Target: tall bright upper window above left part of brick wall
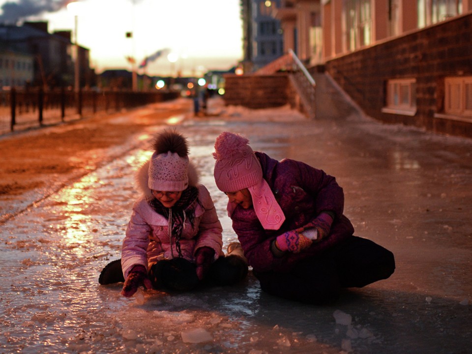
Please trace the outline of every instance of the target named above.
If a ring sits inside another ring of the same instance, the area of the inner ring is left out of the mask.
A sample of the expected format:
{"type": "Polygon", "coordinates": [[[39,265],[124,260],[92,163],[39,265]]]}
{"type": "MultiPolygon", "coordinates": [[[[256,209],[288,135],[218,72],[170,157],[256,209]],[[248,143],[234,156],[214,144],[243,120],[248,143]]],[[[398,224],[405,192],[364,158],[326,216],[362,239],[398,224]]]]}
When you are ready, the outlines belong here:
{"type": "Polygon", "coordinates": [[[346,0],[344,6],[346,49],[354,51],[371,43],[370,0],[346,0]]]}

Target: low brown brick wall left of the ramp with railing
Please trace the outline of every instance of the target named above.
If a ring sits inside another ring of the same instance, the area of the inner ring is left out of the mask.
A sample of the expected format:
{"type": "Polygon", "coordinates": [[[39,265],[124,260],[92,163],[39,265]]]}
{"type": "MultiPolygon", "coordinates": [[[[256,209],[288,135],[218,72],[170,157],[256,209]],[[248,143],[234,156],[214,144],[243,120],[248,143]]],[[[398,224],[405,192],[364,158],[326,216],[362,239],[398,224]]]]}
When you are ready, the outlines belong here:
{"type": "Polygon", "coordinates": [[[289,103],[289,83],[285,73],[272,75],[224,75],[226,105],[251,109],[279,107],[289,103]]]}

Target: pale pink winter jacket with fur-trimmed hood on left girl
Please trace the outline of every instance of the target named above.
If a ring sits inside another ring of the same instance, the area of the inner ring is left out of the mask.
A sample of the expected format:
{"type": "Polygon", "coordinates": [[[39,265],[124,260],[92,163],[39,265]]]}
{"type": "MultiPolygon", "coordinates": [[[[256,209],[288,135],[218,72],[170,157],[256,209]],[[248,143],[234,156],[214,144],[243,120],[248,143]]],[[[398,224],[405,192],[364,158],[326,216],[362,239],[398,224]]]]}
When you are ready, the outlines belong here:
{"type": "MultiPolygon", "coordinates": [[[[144,195],[134,203],[131,219],[128,223],[126,236],[121,249],[121,266],[126,279],[135,265],[143,265],[149,269],[162,259],[178,257],[174,236],[169,238],[169,221],[149,206],[147,198],[152,196],[148,187],[148,166],[146,163],[138,172],[137,181],[144,195]]],[[[195,251],[203,246],[215,251],[215,260],[223,255],[222,227],[216,215],[211,196],[207,188],[198,184],[198,176],[192,164],[189,164],[189,185],[198,188],[198,200],[189,209],[195,209],[193,227],[185,220],[180,236],[182,257],[194,262],[195,251]]],[[[189,213],[189,212],[187,212],[189,213]]]]}

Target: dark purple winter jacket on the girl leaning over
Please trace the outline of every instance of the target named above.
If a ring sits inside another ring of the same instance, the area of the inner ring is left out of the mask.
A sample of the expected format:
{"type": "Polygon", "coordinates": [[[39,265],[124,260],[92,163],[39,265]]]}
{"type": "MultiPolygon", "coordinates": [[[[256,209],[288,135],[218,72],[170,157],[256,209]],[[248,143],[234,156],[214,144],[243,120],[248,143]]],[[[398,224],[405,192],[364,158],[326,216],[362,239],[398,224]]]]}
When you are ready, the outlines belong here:
{"type": "Polygon", "coordinates": [[[255,154],[261,162],[263,177],[286,219],[279,230],[265,230],[253,207],[244,209],[238,205],[233,211],[233,229],[254,270],[290,271],[296,262],[317,255],[353,236],[354,227],[343,215],[343,189],[337,184],[335,177],[300,161],[283,159],[279,162],[265,153],[255,154]],[[277,236],[306,225],[322,211],[335,214],[329,236],[313,242],[300,253],[287,252],[283,257],[272,254],[270,245],[277,236]]]}

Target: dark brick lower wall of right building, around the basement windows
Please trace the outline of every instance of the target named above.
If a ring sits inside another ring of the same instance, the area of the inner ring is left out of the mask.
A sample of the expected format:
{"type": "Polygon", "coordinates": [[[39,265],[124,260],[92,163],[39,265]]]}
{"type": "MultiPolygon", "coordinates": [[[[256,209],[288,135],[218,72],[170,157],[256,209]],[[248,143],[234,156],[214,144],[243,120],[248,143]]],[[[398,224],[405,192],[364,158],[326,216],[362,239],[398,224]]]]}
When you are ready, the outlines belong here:
{"type": "Polygon", "coordinates": [[[472,75],[471,14],[329,60],[325,67],[372,118],[472,137],[472,118],[434,117],[443,113],[444,77],[472,75]],[[414,117],[381,111],[386,82],[395,78],[416,78],[414,117]]]}

